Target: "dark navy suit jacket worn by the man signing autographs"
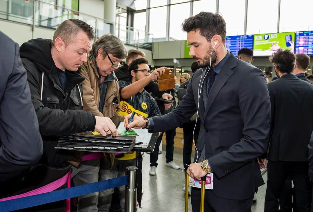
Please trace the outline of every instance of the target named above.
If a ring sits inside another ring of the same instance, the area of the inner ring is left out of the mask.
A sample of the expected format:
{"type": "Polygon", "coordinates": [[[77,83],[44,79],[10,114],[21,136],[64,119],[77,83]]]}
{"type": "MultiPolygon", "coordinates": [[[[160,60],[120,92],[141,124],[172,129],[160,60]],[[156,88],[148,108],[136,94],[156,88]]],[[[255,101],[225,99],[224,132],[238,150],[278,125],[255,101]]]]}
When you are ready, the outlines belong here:
{"type": "Polygon", "coordinates": [[[231,54],[215,79],[205,109],[202,94],[198,99],[204,74],[203,69],[200,81],[201,69],[193,73],[187,94],[174,111],[153,117],[154,131],[187,123],[199,102],[201,129],[195,160],[208,159],[215,195],[234,200],[252,198],[254,189],[264,184],[256,158],[266,151],[269,137],[265,77],[261,70],[231,54]]]}

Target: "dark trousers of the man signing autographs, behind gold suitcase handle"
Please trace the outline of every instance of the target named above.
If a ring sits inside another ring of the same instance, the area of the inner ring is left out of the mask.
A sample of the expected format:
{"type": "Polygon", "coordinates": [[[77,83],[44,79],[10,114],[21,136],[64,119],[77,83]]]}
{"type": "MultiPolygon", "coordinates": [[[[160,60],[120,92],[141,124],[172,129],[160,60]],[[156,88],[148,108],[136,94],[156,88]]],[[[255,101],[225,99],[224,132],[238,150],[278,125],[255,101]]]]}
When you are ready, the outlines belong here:
{"type": "MultiPolygon", "coordinates": [[[[214,186],[213,186],[214,187],[214,186]]],[[[200,211],[200,192],[199,188],[192,187],[191,205],[193,212],[200,211]]],[[[216,196],[212,190],[205,190],[204,194],[204,211],[205,212],[251,212],[253,198],[247,200],[229,200],[216,196]]]]}

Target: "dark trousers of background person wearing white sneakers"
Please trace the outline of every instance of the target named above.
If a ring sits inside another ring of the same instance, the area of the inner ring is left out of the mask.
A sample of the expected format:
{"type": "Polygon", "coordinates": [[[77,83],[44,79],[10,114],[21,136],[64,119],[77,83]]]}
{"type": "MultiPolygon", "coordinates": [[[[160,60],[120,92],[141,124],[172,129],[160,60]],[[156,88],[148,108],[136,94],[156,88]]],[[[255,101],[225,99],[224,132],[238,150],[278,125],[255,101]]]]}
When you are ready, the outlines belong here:
{"type": "MultiPolygon", "coordinates": [[[[156,147],[154,151],[150,154],[150,166],[157,166],[157,159],[159,157],[159,146],[162,141],[162,136],[164,132],[157,138],[156,147]]],[[[174,154],[174,137],[176,136],[176,128],[172,130],[165,131],[165,139],[166,139],[166,162],[173,161],[174,154]]]]}

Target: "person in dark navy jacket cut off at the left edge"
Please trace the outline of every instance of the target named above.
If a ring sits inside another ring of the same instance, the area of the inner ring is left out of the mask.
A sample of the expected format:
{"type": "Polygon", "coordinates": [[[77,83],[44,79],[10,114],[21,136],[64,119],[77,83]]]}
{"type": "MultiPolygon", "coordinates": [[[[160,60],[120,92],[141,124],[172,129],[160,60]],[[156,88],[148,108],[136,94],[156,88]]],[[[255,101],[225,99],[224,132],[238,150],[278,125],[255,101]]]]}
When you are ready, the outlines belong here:
{"type": "Polygon", "coordinates": [[[0,197],[21,182],[43,147],[19,46],[0,31],[0,197]],[[8,187],[6,187],[8,186],[8,187]]]}

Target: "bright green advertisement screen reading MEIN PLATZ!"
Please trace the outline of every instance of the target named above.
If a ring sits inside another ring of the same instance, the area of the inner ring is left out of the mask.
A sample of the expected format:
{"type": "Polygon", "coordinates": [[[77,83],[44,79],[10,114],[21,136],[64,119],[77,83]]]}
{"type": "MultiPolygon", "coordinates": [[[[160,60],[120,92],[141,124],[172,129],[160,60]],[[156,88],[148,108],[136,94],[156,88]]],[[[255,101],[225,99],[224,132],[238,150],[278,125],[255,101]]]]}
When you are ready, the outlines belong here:
{"type": "Polygon", "coordinates": [[[269,56],[279,49],[289,49],[294,52],[295,32],[280,32],[254,35],[254,56],[269,56]]]}

